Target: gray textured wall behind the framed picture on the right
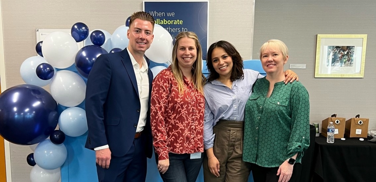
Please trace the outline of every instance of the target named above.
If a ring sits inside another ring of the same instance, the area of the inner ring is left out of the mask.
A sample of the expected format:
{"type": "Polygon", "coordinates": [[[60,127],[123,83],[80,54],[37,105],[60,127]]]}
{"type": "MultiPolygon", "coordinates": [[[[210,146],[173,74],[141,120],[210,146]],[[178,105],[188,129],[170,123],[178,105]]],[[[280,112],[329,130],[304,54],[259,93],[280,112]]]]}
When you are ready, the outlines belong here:
{"type": "MultiPolygon", "coordinates": [[[[308,89],[311,123],[331,114],[370,118],[376,128],[376,2],[374,0],[256,0],[253,58],[269,39],[284,41],[288,64],[306,64],[293,70],[308,89]],[[364,78],[314,78],[317,34],[368,34],[364,78]]],[[[288,66],[285,65],[287,69],[288,66]]]]}

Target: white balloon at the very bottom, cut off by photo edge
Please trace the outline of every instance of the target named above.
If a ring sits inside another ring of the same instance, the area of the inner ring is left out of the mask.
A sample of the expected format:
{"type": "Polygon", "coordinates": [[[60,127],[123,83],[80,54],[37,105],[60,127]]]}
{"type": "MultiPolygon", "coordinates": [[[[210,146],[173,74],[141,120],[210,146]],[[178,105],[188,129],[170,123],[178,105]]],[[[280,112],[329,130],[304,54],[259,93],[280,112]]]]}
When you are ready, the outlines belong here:
{"type": "Polygon", "coordinates": [[[32,182],[58,182],[60,176],[60,168],[46,170],[38,165],[35,165],[30,171],[30,180],[32,182]]]}

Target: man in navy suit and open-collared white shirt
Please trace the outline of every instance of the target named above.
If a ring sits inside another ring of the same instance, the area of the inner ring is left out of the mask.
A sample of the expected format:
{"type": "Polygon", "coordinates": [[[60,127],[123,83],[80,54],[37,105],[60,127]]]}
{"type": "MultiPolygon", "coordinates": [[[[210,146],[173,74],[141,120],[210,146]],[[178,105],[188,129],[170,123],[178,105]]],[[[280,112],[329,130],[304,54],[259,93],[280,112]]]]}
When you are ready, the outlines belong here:
{"type": "Polygon", "coordinates": [[[154,18],[135,12],[129,21],[129,45],[100,55],[86,85],[88,138],[96,152],[99,182],[144,182],[152,157],[150,96],[153,74],[144,53],[153,42],[154,18]]]}

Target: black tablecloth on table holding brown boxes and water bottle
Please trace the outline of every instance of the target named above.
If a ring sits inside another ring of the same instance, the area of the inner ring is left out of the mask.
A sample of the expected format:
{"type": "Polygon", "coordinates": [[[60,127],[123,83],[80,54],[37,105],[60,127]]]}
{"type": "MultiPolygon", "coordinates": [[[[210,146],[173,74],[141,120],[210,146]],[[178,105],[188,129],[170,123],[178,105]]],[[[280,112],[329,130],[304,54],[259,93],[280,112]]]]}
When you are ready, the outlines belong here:
{"type": "Polygon", "coordinates": [[[376,182],[376,143],[346,138],[330,144],[320,135],[315,143],[315,173],[324,182],[376,182]]]}

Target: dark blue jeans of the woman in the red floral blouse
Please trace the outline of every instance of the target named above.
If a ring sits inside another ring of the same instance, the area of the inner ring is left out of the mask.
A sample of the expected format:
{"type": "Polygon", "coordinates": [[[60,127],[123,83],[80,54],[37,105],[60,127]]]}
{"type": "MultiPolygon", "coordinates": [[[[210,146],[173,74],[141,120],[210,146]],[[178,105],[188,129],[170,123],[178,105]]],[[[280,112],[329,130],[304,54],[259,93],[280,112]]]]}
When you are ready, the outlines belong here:
{"type": "MultiPolygon", "coordinates": [[[[155,155],[158,165],[158,155],[155,155]]],[[[201,153],[201,158],[191,159],[190,154],[176,154],[168,153],[170,166],[168,170],[162,174],[159,173],[164,182],[196,182],[199,176],[204,153],[201,153]]]]}

